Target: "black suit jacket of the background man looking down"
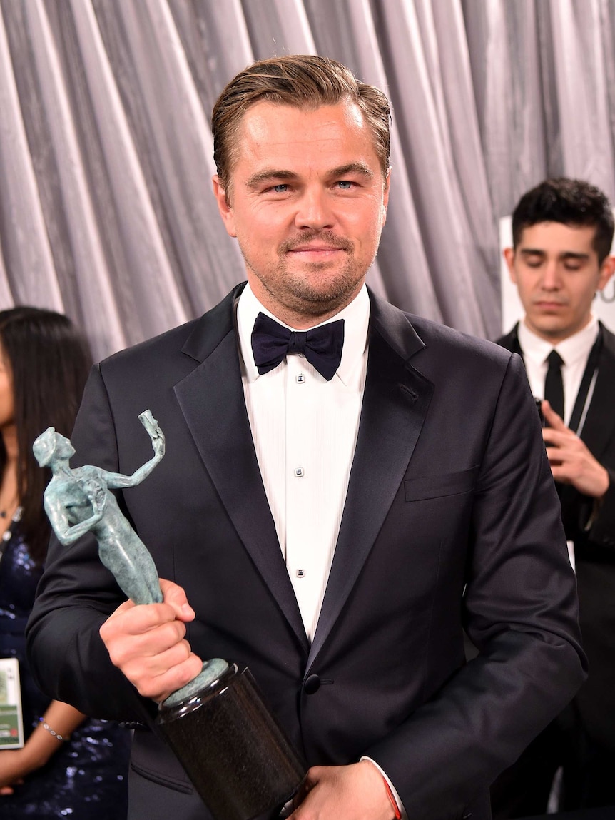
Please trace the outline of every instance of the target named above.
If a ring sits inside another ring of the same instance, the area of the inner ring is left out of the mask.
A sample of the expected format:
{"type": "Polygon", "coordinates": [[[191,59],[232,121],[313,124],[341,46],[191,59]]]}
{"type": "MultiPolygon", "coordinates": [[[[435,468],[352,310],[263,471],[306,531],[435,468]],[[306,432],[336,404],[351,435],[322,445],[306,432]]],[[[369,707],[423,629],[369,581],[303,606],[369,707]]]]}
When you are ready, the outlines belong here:
{"type": "MultiPolygon", "coordinates": [[[[615,753],[615,335],[602,324],[601,332],[598,374],[580,435],[611,483],[598,507],[572,485],[560,486],[560,499],[566,535],[575,544],[581,631],[590,661],[575,711],[590,737],[615,753]]],[[[498,343],[522,353],[517,326],[498,343]]]]}

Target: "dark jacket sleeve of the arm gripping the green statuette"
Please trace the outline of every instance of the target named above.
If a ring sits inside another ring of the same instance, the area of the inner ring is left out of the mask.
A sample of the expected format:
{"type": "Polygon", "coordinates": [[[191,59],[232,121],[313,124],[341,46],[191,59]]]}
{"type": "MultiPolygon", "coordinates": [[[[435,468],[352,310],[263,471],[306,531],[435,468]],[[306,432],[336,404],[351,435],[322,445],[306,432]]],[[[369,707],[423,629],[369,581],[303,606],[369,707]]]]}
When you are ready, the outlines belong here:
{"type": "MultiPolygon", "coordinates": [[[[98,366],[89,376],[71,442],[73,466],[118,471],[112,413],[98,366]]],[[[148,722],[156,704],[141,698],[113,666],[98,634],[123,601],[125,595],[98,558],[93,535],[71,547],[52,536],[26,630],[28,657],[35,681],[49,697],[93,717],[148,722]]]]}

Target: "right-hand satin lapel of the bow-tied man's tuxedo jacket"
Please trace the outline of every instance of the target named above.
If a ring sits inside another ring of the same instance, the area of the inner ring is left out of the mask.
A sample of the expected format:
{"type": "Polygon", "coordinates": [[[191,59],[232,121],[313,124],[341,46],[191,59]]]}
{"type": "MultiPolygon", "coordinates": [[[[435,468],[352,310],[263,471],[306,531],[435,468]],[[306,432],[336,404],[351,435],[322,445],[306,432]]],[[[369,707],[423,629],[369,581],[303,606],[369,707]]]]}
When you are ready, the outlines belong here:
{"type": "Polygon", "coordinates": [[[408,362],[424,345],[407,317],[370,297],[369,358],[357,447],[308,667],[344,607],[399,490],[434,389],[408,362]]]}

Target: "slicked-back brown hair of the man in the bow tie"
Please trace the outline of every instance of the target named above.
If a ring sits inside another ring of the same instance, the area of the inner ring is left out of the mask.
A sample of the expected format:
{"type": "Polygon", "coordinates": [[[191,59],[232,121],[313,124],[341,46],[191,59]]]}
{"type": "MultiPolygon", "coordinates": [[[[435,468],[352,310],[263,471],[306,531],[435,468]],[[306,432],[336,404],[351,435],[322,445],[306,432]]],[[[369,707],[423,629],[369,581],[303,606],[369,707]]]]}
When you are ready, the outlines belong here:
{"type": "Polygon", "coordinates": [[[213,157],[228,198],[230,171],[238,150],[239,125],[256,103],[275,103],[314,111],[323,105],[355,103],[371,128],[383,178],[389,171],[389,100],[376,86],[362,83],[346,66],[328,57],[291,54],[248,66],[230,81],[212,112],[213,157]]]}

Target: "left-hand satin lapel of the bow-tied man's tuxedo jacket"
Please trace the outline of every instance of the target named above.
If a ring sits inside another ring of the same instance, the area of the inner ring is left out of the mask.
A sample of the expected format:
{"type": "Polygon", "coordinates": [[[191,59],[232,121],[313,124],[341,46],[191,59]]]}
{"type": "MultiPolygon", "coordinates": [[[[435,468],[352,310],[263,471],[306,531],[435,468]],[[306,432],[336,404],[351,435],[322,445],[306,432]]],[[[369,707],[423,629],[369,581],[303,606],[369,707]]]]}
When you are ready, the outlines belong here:
{"type": "Polygon", "coordinates": [[[175,385],[186,424],[239,538],[301,643],[307,638],[262,485],[241,383],[233,299],[197,326],[183,353],[200,362],[175,385]]]}

